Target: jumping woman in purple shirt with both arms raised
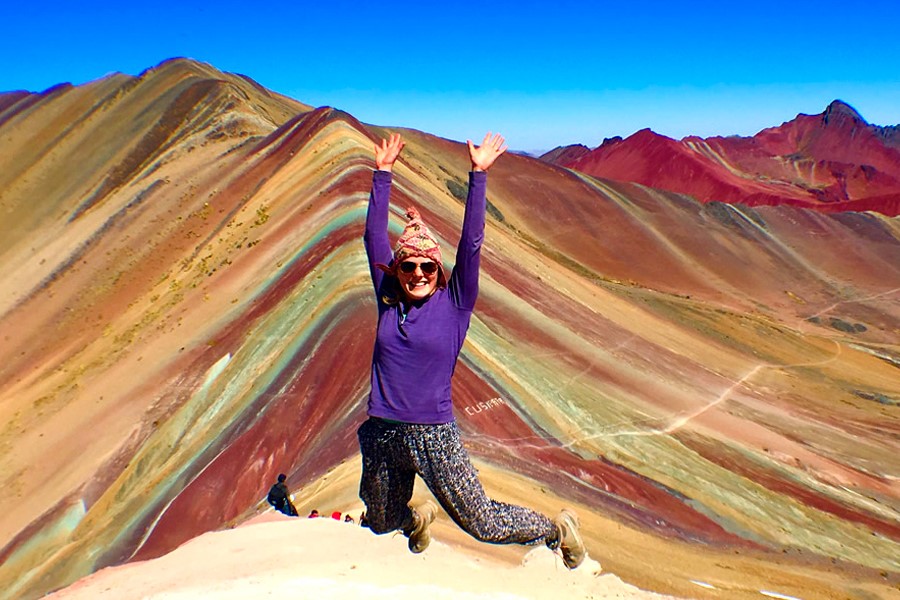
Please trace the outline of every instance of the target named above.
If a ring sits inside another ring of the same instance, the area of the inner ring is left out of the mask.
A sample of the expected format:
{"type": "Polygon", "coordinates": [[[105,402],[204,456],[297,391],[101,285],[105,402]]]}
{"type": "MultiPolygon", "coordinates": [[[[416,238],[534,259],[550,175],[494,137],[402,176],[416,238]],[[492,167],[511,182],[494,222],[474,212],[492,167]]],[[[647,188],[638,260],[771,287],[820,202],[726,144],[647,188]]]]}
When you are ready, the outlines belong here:
{"type": "Polygon", "coordinates": [[[359,495],[375,533],[401,530],[409,549],[422,552],[434,503],[410,507],[415,476],[425,481],[450,518],[474,538],[495,544],[546,544],[574,569],[584,560],[578,517],[564,509],[555,520],[487,497],[460,440],[450,380],[478,296],[484,241],[487,170],[506,151],[503,137],[468,142],[472,172],[456,265],[447,277],[437,239],[414,208],[393,251],[388,200],[399,134],[375,145],[376,171],[364,242],[378,304],[369,418],[357,432],[363,470],[359,495]]]}

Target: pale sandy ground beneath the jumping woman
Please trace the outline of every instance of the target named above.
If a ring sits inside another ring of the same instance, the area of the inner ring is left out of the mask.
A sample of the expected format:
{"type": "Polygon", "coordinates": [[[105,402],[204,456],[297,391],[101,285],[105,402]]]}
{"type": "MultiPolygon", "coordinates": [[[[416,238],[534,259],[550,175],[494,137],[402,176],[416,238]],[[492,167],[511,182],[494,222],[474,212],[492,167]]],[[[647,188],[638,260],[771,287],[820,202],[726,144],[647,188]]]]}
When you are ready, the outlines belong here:
{"type": "Polygon", "coordinates": [[[516,600],[666,598],[634,588],[588,558],[575,571],[546,548],[510,566],[441,543],[411,554],[400,535],[330,518],[266,513],[201,535],[160,558],[103,569],[50,596],[246,600],[252,598],[516,600]]]}

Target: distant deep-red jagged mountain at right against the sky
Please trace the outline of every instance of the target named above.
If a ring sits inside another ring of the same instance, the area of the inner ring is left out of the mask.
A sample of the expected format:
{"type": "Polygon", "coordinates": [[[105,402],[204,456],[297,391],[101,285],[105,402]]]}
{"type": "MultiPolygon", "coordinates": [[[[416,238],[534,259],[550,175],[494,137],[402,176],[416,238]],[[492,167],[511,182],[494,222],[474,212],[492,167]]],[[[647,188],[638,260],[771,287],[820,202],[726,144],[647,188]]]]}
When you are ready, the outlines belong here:
{"type": "Polygon", "coordinates": [[[900,214],[900,133],[835,100],[753,137],[686,137],[642,129],[584,152],[542,158],[594,177],[633,181],[703,202],[789,204],[825,212],[900,214]]]}

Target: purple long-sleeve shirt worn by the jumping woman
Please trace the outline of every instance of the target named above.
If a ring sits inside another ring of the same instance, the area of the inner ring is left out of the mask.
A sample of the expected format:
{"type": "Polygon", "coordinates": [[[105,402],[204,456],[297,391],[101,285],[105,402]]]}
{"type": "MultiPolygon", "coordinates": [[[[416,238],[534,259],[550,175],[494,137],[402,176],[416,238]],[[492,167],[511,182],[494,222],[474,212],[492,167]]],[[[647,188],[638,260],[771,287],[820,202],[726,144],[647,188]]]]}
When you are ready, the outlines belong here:
{"type": "Polygon", "coordinates": [[[484,241],[487,173],[469,174],[469,195],[456,265],[447,287],[409,306],[385,302],[396,278],[376,268],[393,258],[388,239],[391,173],[375,171],[363,241],[378,304],[378,329],[372,353],[372,390],[368,413],[404,423],[453,421],[450,380],[462,349],[478,296],[478,269],[484,241]],[[393,280],[393,281],[391,281],[393,280]]]}

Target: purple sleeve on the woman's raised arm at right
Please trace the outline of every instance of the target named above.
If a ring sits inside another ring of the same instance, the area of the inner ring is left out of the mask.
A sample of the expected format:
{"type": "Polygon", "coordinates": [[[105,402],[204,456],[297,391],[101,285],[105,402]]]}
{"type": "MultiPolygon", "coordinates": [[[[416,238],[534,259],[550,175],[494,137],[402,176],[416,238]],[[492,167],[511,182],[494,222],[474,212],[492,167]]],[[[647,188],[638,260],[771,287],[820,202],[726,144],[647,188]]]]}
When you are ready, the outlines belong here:
{"type": "Polygon", "coordinates": [[[481,245],[484,243],[484,220],[487,195],[487,173],[469,173],[469,194],[466,213],[456,249],[456,265],[448,284],[454,303],[464,310],[474,310],[478,298],[478,269],[481,265],[481,245]]]}

